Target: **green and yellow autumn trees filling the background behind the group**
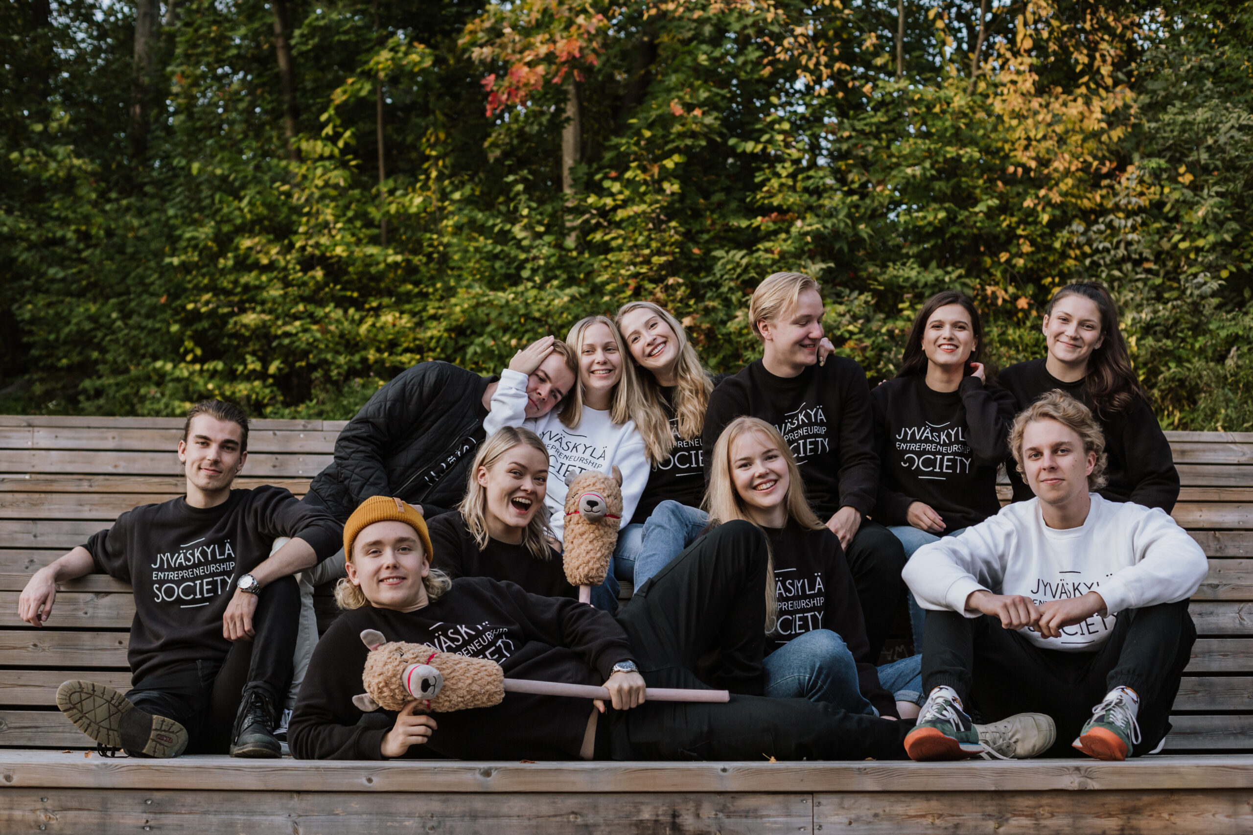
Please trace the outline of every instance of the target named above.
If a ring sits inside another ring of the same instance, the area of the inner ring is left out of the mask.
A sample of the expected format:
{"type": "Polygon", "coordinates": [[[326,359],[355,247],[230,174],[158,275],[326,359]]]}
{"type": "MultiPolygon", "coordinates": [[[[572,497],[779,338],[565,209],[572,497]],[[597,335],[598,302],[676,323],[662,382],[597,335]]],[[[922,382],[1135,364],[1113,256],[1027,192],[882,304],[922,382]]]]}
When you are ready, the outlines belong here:
{"type": "Polygon", "coordinates": [[[632,298],[734,370],[803,270],[872,377],[940,288],[1007,364],[1105,281],[1167,426],[1253,428],[1250,4],[144,6],[142,157],[137,9],[36,5],[0,10],[0,407],[347,416],[632,298]]]}

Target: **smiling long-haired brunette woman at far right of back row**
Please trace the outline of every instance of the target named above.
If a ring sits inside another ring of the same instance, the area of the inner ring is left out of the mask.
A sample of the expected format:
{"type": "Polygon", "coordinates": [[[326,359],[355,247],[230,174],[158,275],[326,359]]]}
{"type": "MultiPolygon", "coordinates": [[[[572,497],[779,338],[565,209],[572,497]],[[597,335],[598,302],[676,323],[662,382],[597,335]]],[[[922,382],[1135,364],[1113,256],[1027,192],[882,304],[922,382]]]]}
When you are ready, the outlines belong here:
{"type": "MultiPolygon", "coordinates": [[[[1179,473],[1149,399],[1131,370],[1118,327],[1118,306],[1095,282],[1066,285],[1049,302],[1044,316],[1049,354],[1005,369],[1000,382],[1014,394],[1019,410],[1040,395],[1060,389],[1091,409],[1105,433],[1109,483],[1100,494],[1110,502],[1174,509],[1179,473]]],[[[1031,498],[1017,470],[1006,468],[1014,500],[1031,498]]]]}

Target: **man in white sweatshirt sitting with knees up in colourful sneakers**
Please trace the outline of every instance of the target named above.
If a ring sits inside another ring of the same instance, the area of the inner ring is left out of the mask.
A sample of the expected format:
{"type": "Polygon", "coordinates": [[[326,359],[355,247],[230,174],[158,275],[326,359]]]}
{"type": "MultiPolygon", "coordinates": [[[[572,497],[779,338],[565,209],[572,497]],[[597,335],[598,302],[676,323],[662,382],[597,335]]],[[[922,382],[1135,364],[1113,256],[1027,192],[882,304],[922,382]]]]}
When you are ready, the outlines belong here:
{"type": "Polygon", "coordinates": [[[1188,598],[1200,547],[1160,509],[1103,499],[1105,440],[1078,400],[1050,391],[1014,420],[1010,450],[1035,499],[923,545],[905,582],[928,609],[915,760],[977,752],[966,707],[1040,711],[1050,754],[1155,752],[1197,639],[1188,598]],[[1071,750],[1074,748],[1074,750],[1071,750]]]}

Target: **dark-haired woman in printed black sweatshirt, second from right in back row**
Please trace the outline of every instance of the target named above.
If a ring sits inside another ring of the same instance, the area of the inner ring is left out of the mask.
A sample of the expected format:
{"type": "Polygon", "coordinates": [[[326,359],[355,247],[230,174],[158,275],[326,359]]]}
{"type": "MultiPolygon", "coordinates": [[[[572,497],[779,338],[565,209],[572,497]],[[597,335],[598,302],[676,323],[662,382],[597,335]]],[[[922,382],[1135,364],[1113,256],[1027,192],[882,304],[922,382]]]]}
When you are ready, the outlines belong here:
{"type": "MultiPolygon", "coordinates": [[[[945,291],[913,318],[896,379],[871,392],[881,473],[875,518],[906,559],[1000,510],[996,468],[1009,454],[1014,395],[977,362],[982,320],[965,293],[945,291]]],[[[910,596],[915,647],[922,608],[910,596]]]]}

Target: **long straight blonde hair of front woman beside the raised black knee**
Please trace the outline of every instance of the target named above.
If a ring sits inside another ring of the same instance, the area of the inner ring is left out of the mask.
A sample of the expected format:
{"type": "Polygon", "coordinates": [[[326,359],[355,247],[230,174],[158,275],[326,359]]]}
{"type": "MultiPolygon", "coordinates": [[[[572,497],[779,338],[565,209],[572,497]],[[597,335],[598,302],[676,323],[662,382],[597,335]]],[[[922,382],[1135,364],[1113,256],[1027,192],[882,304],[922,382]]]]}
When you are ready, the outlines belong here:
{"type": "MultiPolygon", "coordinates": [[[[709,525],[718,527],[733,519],[757,524],[748,514],[748,505],[739,496],[730,476],[730,450],[741,436],[751,433],[766,435],[767,443],[774,445],[787,463],[788,486],[783,504],[787,507],[788,518],[802,528],[812,530],[823,528],[822,522],[804,499],[804,481],[801,479],[801,468],[797,466],[792,450],[788,449],[779,430],[761,418],[737,418],[727,424],[722,435],[718,436],[718,443],[714,444],[709,466],[709,488],[705,490],[705,498],[702,503],[705,513],[709,514],[709,525]]],[[[766,548],[769,550],[766,563],[766,632],[771,633],[778,624],[778,601],[774,594],[774,552],[769,548],[769,539],[767,539],[766,548]]]]}

